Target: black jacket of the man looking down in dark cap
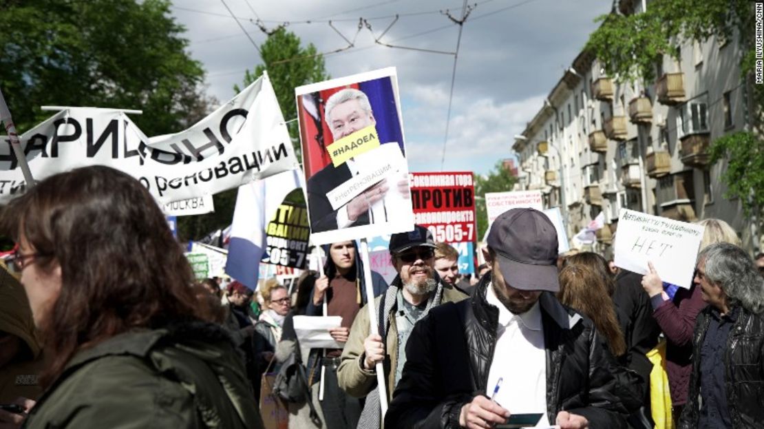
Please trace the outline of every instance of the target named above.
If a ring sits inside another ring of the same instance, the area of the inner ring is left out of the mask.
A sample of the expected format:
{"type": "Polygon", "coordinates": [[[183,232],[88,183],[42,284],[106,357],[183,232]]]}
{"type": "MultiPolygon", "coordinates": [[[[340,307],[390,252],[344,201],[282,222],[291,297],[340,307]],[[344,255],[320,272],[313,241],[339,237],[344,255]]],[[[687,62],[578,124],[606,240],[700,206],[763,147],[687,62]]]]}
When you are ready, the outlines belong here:
{"type": "MultiPolygon", "coordinates": [[[[416,323],[385,427],[459,427],[461,407],[485,395],[499,317],[485,300],[489,282],[490,275],[484,276],[471,298],[435,307],[416,323]]],[[[569,411],[587,418],[594,429],[626,427],[626,410],[613,394],[615,380],[607,370],[614,359],[591,320],[548,292],[539,302],[550,423],[559,411],[569,411]]]]}

